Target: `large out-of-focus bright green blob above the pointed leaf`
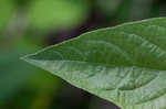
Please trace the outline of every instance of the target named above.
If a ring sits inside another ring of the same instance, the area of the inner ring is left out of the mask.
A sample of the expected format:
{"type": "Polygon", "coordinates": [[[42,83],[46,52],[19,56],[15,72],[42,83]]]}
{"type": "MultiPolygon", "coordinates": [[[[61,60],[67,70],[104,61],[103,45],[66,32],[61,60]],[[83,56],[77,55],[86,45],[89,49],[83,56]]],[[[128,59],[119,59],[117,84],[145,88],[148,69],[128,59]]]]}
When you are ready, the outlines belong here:
{"type": "Polygon", "coordinates": [[[28,17],[37,29],[73,26],[87,15],[86,0],[31,0],[28,17]]]}

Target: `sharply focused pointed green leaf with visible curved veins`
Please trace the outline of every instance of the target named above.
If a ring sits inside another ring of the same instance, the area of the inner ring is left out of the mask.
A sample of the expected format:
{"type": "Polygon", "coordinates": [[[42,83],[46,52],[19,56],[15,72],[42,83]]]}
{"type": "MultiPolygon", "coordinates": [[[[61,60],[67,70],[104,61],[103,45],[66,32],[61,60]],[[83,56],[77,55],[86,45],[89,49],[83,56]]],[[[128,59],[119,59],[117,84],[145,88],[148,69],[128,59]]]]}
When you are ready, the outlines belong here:
{"type": "Polygon", "coordinates": [[[166,18],[85,33],[24,59],[123,109],[166,108],[166,18]]]}

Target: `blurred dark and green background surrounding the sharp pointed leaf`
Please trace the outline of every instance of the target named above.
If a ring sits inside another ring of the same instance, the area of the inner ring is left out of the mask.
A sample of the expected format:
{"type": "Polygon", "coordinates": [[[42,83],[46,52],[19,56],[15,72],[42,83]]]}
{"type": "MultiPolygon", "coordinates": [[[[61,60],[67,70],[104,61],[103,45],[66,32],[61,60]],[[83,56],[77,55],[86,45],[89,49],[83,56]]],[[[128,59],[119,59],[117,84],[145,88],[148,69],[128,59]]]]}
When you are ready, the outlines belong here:
{"type": "Polygon", "coordinates": [[[19,57],[87,31],[165,15],[166,0],[0,0],[0,109],[120,109],[19,57]]]}

